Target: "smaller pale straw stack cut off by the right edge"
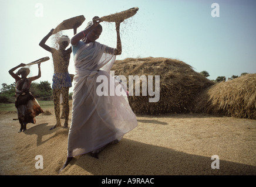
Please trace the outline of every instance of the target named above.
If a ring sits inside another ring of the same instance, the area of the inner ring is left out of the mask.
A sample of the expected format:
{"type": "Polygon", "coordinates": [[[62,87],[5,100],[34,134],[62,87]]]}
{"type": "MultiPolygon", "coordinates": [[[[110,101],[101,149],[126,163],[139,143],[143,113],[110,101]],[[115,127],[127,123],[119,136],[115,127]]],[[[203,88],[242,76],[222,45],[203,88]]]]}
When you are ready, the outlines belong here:
{"type": "Polygon", "coordinates": [[[196,112],[256,119],[256,74],[206,89],[196,100],[196,112]]]}

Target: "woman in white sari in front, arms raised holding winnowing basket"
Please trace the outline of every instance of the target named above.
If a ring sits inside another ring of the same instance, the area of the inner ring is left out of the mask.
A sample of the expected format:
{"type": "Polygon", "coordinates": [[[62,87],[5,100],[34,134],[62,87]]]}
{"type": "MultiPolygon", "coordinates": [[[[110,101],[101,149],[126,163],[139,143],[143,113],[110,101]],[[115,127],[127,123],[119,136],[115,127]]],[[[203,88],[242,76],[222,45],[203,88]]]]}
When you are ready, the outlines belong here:
{"type": "Polygon", "coordinates": [[[93,22],[89,22],[86,29],[71,40],[76,72],[72,123],[68,158],[60,171],[76,155],[91,153],[98,158],[97,154],[107,144],[117,143],[137,126],[136,116],[127,102],[126,90],[120,88],[119,82],[109,74],[116,55],[122,53],[120,22],[116,23],[116,49],[95,41],[102,33],[100,22],[95,16],[93,22]]]}

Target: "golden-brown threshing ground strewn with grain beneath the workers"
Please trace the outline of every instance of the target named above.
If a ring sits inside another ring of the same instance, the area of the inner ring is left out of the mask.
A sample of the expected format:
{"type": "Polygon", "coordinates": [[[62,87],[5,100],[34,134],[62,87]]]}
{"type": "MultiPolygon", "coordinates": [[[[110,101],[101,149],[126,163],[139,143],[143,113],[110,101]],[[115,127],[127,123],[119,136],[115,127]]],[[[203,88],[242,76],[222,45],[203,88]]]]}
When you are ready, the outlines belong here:
{"type": "Polygon", "coordinates": [[[80,155],[58,174],[68,129],[50,131],[55,124],[50,112],[22,133],[12,120],[16,113],[0,113],[1,175],[256,175],[256,120],[201,114],[137,116],[136,129],[99,160],[80,155]],[[35,168],[36,155],[42,155],[43,169],[35,168]],[[220,169],[211,168],[213,155],[220,169]]]}

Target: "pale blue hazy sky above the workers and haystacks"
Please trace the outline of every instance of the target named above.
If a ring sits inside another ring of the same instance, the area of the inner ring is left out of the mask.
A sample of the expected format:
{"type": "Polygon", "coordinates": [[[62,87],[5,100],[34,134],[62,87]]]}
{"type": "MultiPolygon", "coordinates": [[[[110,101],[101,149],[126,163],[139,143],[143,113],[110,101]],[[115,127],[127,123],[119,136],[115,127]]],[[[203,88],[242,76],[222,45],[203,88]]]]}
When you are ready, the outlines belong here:
{"type": "MultiPolygon", "coordinates": [[[[52,56],[38,44],[62,20],[84,15],[105,16],[134,6],[139,11],[121,25],[123,53],[127,57],[176,58],[191,65],[195,71],[209,72],[209,79],[256,73],[256,1],[253,0],[0,0],[1,64],[0,84],[11,84],[8,71],[20,63],[29,63],[49,56],[41,64],[42,77],[36,82],[52,83],[52,56]],[[213,3],[220,6],[220,17],[211,16],[213,3]],[[37,4],[43,8],[38,16],[37,4]]],[[[102,23],[99,42],[116,47],[113,23],[102,23]]],[[[73,30],[63,34],[72,37],[73,30]]],[[[51,38],[50,38],[51,39],[51,38]]],[[[50,40],[47,42],[51,46],[50,40]]],[[[74,73],[73,56],[69,72],[74,73]]],[[[37,65],[31,75],[38,74],[37,65]]],[[[160,80],[161,81],[161,80],[160,80]]]]}

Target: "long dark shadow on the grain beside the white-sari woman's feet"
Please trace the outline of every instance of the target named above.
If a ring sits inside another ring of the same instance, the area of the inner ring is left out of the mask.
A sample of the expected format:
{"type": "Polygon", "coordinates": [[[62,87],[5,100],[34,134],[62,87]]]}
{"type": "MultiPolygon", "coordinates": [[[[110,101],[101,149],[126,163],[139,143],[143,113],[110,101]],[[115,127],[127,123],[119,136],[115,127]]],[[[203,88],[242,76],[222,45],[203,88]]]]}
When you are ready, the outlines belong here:
{"type": "Polygon", "coordinates": [[[89,154],[80,155],[65,169],[77,165],[93,175],[256,175],[252,165],[220,160],[220,169],[212,169],[212,162],[211,157],[123,138],[103,150],[99,160],[89,154]]]}

